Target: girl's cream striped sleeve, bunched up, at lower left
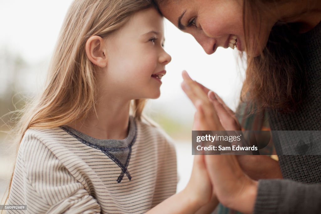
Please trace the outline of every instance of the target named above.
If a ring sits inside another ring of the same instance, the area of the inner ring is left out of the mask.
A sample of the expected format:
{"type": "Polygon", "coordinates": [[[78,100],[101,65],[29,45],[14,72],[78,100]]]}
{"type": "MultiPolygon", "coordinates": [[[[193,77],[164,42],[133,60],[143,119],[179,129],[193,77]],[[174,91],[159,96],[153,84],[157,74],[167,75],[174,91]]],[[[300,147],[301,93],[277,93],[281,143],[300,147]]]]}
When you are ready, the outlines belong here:
{"type": "MultiPolygon", "coordinates": [[[[21,183],[27,213],[100,213],[100,205],[41,140],[26,136],[13,182],[21,183]]],[[[15,186],[12,186],[15,188],[15,186]]],[[[10,202],[14,203],[12,197],[10,202]]]]}

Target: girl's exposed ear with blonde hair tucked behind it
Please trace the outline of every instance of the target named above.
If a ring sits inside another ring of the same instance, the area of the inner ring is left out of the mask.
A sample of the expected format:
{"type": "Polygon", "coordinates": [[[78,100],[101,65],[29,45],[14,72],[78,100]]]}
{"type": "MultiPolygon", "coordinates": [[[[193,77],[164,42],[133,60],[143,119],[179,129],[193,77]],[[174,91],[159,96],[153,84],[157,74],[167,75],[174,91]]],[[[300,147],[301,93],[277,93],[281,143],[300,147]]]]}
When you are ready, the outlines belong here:
{"type": "Polygon", "coordinates": [[[86,55],[88,59],[99,67],[107,66],[106,50],[104,49],[104,40],[100,36],[91,36],[86,41],[86,55]]]}

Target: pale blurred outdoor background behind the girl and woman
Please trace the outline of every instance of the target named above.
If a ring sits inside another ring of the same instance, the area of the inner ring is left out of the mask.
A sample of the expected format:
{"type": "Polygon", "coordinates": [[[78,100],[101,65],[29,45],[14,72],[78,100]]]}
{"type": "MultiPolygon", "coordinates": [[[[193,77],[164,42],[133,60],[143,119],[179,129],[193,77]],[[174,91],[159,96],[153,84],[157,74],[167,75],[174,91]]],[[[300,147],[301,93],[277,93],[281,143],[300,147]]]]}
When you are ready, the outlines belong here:
{"type": "MultiPolygon", "coordinates": [[[[0,0],[0,198],[8,187],[17,151],[6,134],[13,125],[9,119],[14,117],[14,110],[40,93],[71,2],[0,0]]],[[[191,35],[164,22],[165,50],[172,61],[162,78],[160,98],[150,100],[145,112],[175,141],[180,191],[188,182],[193,163],[191,128],[195,112],[180,88],[182,70],[215,91],[235,111],[244,69],[237,64],[237,50],[218,48],[207,55],[191,35]]]]}

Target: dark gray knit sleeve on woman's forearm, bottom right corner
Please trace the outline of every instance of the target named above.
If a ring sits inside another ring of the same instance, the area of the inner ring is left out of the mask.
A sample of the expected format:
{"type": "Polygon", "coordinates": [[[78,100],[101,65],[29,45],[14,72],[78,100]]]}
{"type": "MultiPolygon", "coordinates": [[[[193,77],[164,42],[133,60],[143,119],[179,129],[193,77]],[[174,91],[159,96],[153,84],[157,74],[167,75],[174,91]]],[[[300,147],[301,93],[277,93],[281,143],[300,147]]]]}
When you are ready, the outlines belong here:
{"type": "Polygon", "coordinates": [[[256,214],[320,213],[321,184],[286,179],[259,180],[254,207],[256,214]]]}

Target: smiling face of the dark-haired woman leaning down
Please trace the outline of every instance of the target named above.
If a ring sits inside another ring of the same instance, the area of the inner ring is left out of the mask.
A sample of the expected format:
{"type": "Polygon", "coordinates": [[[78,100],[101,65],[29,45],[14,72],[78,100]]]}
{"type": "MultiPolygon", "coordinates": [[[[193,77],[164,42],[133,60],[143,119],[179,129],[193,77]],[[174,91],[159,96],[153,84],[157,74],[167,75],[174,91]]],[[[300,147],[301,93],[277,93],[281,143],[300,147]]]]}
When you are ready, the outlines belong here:
{"type": "MultiPolygon", "coordinates": [[[[236,48],[245,50],[243,0],[169,0],[160,4],[160,11],[180,30],[192,34],[207,54],[218,47],[234,48],[235,40],[236,48]]],[[[264,49],[271,28],[263,21],[258,45],[250,55],[264,49]]],[[[250,35],[249,40],[253,38],[250,35]]]]}

